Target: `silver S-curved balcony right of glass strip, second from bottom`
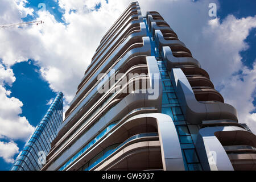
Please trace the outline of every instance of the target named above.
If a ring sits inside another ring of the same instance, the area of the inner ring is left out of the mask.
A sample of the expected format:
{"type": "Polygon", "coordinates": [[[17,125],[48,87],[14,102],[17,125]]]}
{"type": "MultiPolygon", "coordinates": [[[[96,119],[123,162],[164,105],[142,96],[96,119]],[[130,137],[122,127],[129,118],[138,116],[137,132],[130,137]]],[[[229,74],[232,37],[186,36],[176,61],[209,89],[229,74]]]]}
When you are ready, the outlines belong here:
{"type": "Polygon", "coordinates": [[[189,84],[187,77],[180,68],[172,69],[172,82],[179,98],[185,119],[192,124],[206,120],[231,119],[238,121],[237,111],[233,106],[219,101],[199,102],[189,84]]]}

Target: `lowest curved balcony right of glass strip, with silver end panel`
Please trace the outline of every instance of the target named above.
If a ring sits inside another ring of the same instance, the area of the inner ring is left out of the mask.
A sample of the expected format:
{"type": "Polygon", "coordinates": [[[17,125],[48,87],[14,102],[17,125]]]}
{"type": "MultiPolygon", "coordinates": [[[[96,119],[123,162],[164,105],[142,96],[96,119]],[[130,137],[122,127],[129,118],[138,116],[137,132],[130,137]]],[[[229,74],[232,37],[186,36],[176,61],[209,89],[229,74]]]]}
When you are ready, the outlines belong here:
{"type": "MultiPolygon", "coordinates": [[[[252,169],[254,166],[253,160],[255,159],[251,158],[251,155],[242,154],[241,151],[234,154],[228,149],[233,148],[232,150],[234,150],[233,146],[238,145],[255,147],[255,144],[256,136],[242,127],[205,127],[199,130],[196,150],[205,170],[233,171],[234,169],[241,169],[241,167],[252,169]],[[209,154],[213,155],[213,158],[209,158],[209,154]]],[[[241,149],[237,148],[236,150],[241,149]]],[[[245,150],[245,148],[243,147],[242,150],[245,150]]]]}

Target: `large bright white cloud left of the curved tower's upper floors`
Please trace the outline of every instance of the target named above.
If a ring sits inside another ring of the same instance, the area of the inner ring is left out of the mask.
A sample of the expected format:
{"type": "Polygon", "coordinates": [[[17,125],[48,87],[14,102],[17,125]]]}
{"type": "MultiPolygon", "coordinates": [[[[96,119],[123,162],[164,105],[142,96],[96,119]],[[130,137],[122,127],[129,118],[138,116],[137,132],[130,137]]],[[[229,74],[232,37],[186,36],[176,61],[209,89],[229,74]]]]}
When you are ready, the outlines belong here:
{"type": "Polygon", "coordinates": [[[101,37],[127,3],[121,6],[114,1],[109,4],[82,0],[59,3],[65,9],[63,19],[67,25],[57,22],[48,11],[39,11],[38,20],[44,20],[43,25],[0,30],[0,39],[5,43],[0,43],[0,55],[6,65],[28,59],[38,61],[51,89],[63,92],[65,100],[70,102],[101,37]],[[98,3],[101,8],[95,11],[98,3]]]}

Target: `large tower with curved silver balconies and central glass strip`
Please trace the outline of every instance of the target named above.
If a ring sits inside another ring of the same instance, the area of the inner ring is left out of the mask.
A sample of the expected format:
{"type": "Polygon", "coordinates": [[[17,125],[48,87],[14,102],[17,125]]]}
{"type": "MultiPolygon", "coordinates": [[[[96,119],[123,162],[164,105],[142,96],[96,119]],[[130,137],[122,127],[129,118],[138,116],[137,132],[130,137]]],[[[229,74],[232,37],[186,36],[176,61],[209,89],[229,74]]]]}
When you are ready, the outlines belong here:
{"type": "Polygon", "coordinates": [[[256,169],[255,135],[138,2],[103,36],[51,146],[42,170],[256,169]]]}

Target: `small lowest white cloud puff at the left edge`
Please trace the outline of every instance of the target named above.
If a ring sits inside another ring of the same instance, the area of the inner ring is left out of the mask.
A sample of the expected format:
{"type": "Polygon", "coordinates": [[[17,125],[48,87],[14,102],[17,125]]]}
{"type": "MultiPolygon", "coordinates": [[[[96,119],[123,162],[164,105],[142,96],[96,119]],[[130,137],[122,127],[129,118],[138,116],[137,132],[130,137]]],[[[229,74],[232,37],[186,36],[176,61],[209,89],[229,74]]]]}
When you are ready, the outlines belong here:
{"type": "Polygon", "coordinates": [[[1,142],[0,141],[0,157],[5,160],[6,163],[14,162],[14,155],[19,152],[19,147],[14,142],[1,142]]]}

